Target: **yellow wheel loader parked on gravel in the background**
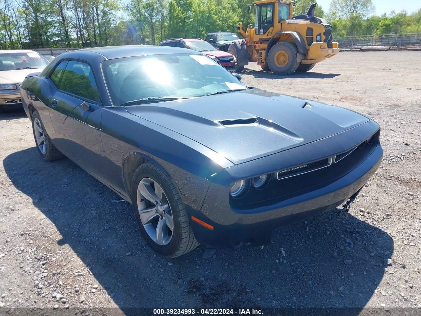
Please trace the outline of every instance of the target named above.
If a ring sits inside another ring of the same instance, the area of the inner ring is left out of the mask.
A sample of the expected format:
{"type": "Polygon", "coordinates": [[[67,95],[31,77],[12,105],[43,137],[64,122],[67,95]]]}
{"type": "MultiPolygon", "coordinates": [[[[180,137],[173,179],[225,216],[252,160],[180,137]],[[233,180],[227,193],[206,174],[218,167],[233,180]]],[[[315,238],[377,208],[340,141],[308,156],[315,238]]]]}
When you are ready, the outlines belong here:
{"type": "Polygon", "coordinates": [[[332,26],[314,16],[316,3],[299,16],[292,16],[294,5],[292,1],[262,0],[249,6],[249,10],[255,8],[255,25],[244,32],[239,23],[237,29],[244,38],[228,47],[237,59],[236,72],[249,62],[278,75],[306,72],[339,52],[338,43],[332,42],[332,26]]]}

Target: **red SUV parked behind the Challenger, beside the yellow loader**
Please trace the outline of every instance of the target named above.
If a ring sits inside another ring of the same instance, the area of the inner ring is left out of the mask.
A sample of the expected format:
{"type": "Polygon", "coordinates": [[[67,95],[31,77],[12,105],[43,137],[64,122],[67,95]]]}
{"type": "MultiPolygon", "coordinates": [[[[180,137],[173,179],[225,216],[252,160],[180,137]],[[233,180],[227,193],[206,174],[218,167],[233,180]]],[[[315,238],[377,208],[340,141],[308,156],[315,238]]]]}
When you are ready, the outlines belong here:
{"type": "Polygon", "coordinates": [[[213,47],[211,44],[200,38],[170,38],[164,40],[163,42],[160,42],[159,46],[188,48],[200,51],[201,53],[217,61],[220,65],[222,65],[229,71],[234,71],[235,65],[237,63],[237,60],[233,55],[225,51],[218,50],[217,48],[213,47]]]}

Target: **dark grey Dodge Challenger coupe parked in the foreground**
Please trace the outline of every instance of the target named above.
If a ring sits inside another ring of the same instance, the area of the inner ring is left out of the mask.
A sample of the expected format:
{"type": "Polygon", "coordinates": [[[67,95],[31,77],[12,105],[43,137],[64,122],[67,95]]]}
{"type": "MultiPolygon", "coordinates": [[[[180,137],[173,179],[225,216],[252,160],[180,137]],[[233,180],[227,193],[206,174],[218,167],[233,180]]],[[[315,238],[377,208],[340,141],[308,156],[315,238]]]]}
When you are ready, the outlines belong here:
{"type": "Polygon", "coordinates": [[[132,203],[166,257],[198,243],[261,244],[278,226],[349,204],[383,155],[374,121],[248,89],[187,49],[68,52],[21,94],[41,157],[67,156],[132,203]]]}

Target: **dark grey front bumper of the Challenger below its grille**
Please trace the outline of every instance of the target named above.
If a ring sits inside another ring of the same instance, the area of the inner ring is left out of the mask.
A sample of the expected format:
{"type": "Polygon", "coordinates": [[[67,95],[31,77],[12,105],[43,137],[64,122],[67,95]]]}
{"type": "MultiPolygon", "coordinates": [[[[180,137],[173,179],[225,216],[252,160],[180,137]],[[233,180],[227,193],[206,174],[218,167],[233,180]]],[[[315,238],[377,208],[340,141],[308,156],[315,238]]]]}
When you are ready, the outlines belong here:
{"type": "Polygon", "coordinates": [[[199,243],[213,247],[235,248],[246,243],[267,243],[273,229],[333,210],[354,195],[375,173],[382,156],[383,149],[378,144],[363,163],[329,185],[276,204],[247,211],[234,210],[221,201],[223,190],[213,183],[202,209],[189,209],[189,213],[214,226],[214,229],[209,230],[190,221],[195,237],[199,243]]]}

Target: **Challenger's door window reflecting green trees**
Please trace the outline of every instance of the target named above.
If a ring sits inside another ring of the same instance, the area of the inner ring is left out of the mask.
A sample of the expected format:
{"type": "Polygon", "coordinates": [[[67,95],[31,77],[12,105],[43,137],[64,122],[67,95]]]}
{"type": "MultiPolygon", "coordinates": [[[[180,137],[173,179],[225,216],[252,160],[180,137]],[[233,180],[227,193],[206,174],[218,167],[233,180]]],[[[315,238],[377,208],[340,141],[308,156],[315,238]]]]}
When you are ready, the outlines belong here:
{"type": "Polygon", "coordinates": [[[61,78],[60,90],[84,99],[100,101],[91,67],[80,61],[69,61],[61,78]]]}

